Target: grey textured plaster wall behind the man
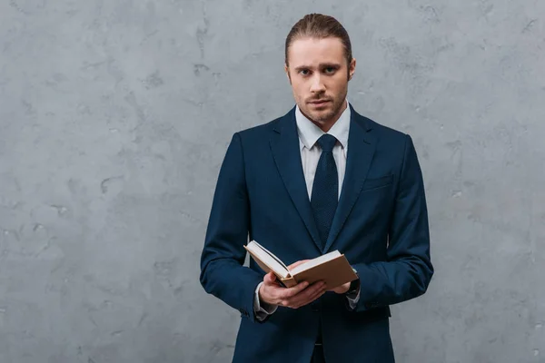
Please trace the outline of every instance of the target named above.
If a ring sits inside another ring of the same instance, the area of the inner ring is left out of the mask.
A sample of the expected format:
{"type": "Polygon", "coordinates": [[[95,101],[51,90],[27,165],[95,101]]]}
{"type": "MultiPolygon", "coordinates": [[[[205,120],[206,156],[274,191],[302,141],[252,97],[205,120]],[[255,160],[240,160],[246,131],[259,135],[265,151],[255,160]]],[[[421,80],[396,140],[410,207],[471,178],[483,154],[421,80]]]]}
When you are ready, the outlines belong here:
{"type": "Polygon", "coordinates": [[[0,3],[0,362],[227,362],[199,257],[233,132],[292,107],[283,42],[336,16],[349,99],[409,132],[436,275],[400,362],[545,362],[545,2],[0,3]]]}

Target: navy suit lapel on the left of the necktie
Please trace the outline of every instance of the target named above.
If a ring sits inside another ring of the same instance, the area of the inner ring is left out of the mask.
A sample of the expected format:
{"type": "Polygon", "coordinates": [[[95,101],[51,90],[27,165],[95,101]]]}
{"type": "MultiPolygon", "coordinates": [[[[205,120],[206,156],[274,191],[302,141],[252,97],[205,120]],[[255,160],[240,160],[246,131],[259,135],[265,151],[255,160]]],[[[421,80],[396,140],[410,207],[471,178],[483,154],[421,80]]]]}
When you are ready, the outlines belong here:
{"type": "MultiPolygon", "coordinates": [[[[309,193],[302,173],[301,151],[299,150],[299,136],[295,123],[295,108],[283,116],[275,125],[270,140],[272,156],[282,181],[290,194],[295,208],[301,215],[302,221],[312,236],[318,249],[320,236],[312,214],[309,193]]],[[[350,149],[349,149],[350,150],[350,149]]]]}

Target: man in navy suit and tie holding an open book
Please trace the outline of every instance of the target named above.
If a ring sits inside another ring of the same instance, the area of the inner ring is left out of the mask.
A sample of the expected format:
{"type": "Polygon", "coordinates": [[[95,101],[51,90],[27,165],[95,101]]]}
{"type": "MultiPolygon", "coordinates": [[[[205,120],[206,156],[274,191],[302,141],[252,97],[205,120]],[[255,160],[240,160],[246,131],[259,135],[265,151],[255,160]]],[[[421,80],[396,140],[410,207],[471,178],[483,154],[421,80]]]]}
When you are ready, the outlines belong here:
{"type": "Polygon", "coordinates": [[[356,113],[345,29],[306,15],[285,45],[296,106],[233,135],[201,260],[203,288],[242,313],[234,362],[393,362],[389,305],[431,280],[421,169],[409,135],[356,113]],[[257,240],[296,265],[339,250],[359,280],[283,288],[250,261],[257,240]],[[263,276],[264,275],[264,276],[263,276]]]}

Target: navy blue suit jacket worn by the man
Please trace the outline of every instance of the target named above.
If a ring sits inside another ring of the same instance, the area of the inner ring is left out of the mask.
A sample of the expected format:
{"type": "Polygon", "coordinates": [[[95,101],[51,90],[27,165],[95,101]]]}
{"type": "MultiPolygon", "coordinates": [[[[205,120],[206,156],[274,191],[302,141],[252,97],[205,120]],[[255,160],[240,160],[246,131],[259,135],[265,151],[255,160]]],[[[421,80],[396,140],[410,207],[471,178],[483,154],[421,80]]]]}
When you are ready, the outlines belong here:
{"type": "Polygon", "coordinates": [[[411,137],[351,111],[342,193],[322,249],[295,108],[233,135],[213,197],[200,279],[208,293],[241,312],[234,362],[308,363],[320,327],[328,361],[392,362],[389,306],[428,288],[428,215],[411,137]],[[326,292],[311,305],[279,307],[263,322],[255,319],[254,291],[264,272],[253,260],[243,267],[248,237],[286,264],[340,250],[360,276],[357,307],[326,292]]]}

